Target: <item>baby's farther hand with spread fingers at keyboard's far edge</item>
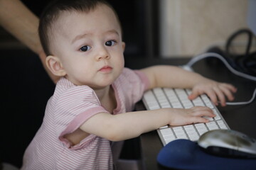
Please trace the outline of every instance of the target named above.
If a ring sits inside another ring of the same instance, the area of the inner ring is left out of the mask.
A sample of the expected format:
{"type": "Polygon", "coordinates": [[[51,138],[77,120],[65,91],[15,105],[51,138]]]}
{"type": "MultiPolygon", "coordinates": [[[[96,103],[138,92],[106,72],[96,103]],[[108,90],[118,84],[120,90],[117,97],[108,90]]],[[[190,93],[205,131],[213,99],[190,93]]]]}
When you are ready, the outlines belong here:
{"type": "Polygon", "coordinates": [[[233,101],[233,93],[236,91],[237,89],[235,86],[231,84],[207,80],[196,84],[196,86],[194,86],[192,89],[191,95],[188,96],[188,99],[193,100],[201,94],[207,94],[207,96],[211,101],[213,101],[213,103],[215,103],[216,106],[218,105],[218,101],[220,101],[221,106],[225,106],[225,97],[227,97],[229,101],[233,101]]]}

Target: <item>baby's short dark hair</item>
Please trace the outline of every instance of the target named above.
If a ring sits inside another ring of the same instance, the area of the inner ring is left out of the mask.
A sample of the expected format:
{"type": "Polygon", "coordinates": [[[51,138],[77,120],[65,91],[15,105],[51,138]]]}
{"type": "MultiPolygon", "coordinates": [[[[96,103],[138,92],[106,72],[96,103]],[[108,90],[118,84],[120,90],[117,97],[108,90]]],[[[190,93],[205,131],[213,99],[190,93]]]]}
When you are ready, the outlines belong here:
{"type": "MultiPolygon", "coordinates": [[[[51,49],[49,45],[50,35],[53,34],[53,23],[58,20],[60,13],[63,11],[78,11],[88,13],[94,10],[100,4],[105,4],[112,8],[112,11],[114,11],[114,8],[105,0],[55,0],[48,4],[41,14],[38,28],[41,45],[43,46],[46,56],[53,55],[50,51],[51,49]]],[[[114,14],[119,22],[116,11],[114,11],[114,14]]],[[[120,22],[119,25],[121,28],[120,22]]]]}

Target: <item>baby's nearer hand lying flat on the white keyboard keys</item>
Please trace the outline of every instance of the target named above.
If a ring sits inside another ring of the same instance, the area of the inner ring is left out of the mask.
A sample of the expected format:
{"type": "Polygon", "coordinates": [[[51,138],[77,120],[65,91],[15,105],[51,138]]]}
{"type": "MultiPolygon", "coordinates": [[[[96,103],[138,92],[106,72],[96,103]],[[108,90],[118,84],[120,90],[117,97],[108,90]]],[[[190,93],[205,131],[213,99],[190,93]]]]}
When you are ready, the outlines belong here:
{"type": "Polygon", "coordinates": [[[208,119],[203,118],[203,116],[213,118],[215,114],[213,111],[204,106],[195,106],[193,108],[175,108],[173,118],[171,118],[171,123],[169,125],[188,125],[192,123],[208,123],[208,119]]]}

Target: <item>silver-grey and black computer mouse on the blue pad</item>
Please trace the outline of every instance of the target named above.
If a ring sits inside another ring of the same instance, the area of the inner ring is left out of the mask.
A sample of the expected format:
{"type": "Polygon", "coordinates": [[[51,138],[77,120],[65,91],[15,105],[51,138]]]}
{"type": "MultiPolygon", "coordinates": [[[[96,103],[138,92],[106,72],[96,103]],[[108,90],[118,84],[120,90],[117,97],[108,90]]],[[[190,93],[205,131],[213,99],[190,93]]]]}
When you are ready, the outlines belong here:
{"type": "Polygon", "coordinates": [[[256,140],[235,130],[210,130],[201,135],[198,146],[222,157],[256,158],[256,140]]]}

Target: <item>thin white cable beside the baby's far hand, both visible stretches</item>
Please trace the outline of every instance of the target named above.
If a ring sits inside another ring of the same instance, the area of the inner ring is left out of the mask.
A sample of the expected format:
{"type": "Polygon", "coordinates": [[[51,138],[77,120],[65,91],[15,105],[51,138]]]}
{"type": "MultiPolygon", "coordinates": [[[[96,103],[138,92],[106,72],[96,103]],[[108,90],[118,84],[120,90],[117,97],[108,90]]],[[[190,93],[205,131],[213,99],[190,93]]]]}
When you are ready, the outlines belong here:
{"type": "MultiPolygon", "coordinates": [[[[251,75],[242,73],[242,72],[238,72],[237,70],[233,69],[233,67],[230,66],[230,64],[224,59],[224,57],[222,57],[221,55],[218,55],[217,53],[214,52],[207,52],[204,53],[202,55],[198,55],[196,57],[193,57],[186,65],[185,67],[191,68],[193,64],[195,64],[196,62],[198,62],[199,60],[202,60],[204,58],[207,57],[216,57],[218,59],[220,59],[225,66],[230,70],[230,72],[233,72],[233,74],[238,75],[240,77],[246,78],[246,79],[250,79],[252,81],[256,81],[256,77],[253,77],[251,75]]],[[[245,104],[249,104],[252,103],[252,101],[255,99],[256,96],[256,88],[255,91],[252,94],[252,98],[250,99],[250,101],[242,101],[242,102],[226,102],[227,105],[245,105],[245,104]]]]}

